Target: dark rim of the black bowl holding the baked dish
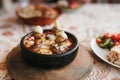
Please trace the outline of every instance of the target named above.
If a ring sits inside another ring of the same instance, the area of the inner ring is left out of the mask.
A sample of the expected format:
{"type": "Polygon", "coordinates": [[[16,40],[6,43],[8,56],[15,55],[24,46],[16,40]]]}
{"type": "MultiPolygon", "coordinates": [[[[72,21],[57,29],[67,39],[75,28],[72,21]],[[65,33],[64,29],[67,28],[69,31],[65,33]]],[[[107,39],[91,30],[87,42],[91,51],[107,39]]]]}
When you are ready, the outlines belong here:
{"type": "MultiPolygon", "coordinates": [[[[51,29],[44,29],[44,31],[47,31],[47,30],[51,30],[51,29]]],[[[72,49],[70,49],[69,51],[67,51],[67,52],[65,52],[65,53],[62,53],[62,54],[52,54],[52,55],[38,54],[38,53],[35,53],[35,52],[32,52],[32,51],[28,50],[28,49],[24,46],[24,39],[25,39],[25,37],[28,36],[28,35],[30,35],[30,34],[32,34],[32,33],[33,33],[33,31],[32,31],[32,32],[29,32],[28,34],[26,34],[25,36],[23,36],[23,38],[22,38],[21,41],[20,41],[20,46],[21,46],[21,50],[22,50],[22,49],[25,49],[27,52],[30,52],[30,53],[32,53],[33,55],[46,56],[46,57],[61,57],[61,56],[66,56],[66,55],[68,55],[68,54],[73,53],[73,52],[74,52],[75,50],[77,50],[77,48],[79,47],[79,42],[78,42],[77,37],[74,36],[72,33],[65,31],[65,33],[66,33],[67,35],[71,35],[71,36],[74,38],[73,40],[75,40],[75,41],[74,41],[74,42],[75,42],[75,45],[73,46],[72,49]]]]}

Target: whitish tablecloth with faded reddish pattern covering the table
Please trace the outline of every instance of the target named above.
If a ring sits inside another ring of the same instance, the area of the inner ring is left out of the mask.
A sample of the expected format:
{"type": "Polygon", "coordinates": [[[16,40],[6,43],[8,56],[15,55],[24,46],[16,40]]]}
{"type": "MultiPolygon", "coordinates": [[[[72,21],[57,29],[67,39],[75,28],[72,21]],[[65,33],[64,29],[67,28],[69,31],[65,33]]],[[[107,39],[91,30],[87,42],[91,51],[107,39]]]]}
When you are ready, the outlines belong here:
{"type": "MultiPolygon", "coordinates": [[[[85,80],[120,80],[120,69],[103,62],[90,49],[90,41],[97,35],[120,32],[120,4],[86,4],[78,10],[63,13],[59,21],[64,30],[78,37],[80,44],[94,58],[93,70],[85,80]]],[[[6,69],[6,56],[32,29],[33,26],[18,21],[15,7],[0,12],[0,80],[11,80],[6,69]]]]}

